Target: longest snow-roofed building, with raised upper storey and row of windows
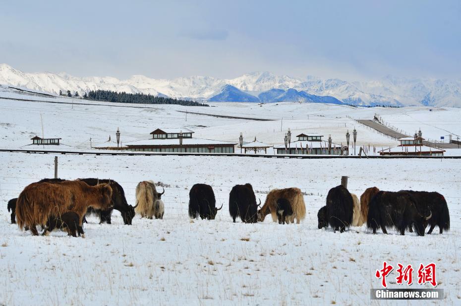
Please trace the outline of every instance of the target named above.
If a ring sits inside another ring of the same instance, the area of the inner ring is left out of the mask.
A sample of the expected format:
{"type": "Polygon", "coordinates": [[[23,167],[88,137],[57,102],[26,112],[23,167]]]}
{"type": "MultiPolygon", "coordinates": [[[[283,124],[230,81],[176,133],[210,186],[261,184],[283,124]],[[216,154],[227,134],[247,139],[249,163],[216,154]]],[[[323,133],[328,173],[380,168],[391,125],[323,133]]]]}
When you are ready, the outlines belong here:
{"type": "MultiPolygon", "coordinates": [[[[144,152],[234,153],[236,143],[194,138],[189,129],[157,129],[146,140],[125,141],[122,150],[144,152]]],[[[98,148],[98,147],[97,147],[98,148]]]]}

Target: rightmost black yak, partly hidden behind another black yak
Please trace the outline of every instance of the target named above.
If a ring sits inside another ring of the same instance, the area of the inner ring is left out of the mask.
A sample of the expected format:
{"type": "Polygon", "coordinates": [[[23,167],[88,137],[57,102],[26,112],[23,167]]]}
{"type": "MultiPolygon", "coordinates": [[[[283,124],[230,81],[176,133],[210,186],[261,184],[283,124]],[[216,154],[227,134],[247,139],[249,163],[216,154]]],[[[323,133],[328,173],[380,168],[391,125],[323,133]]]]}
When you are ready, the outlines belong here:
{"type": "Polygon", "coordinates": [[[426,228],[427,223],[430,225],[427,232],[428,235],[432,233],[436,225],[439,227],[439,232],[441,234],[443,234],[444,230],[450,230],[450,213],[448,211],[447,201],[445,201],[443,195],[438,192],[405,191],[413,197],[416,208],[423,216],[426,216],[429,212],[432,213],[431,219],[424,223],[424,228],[426,228]]]}

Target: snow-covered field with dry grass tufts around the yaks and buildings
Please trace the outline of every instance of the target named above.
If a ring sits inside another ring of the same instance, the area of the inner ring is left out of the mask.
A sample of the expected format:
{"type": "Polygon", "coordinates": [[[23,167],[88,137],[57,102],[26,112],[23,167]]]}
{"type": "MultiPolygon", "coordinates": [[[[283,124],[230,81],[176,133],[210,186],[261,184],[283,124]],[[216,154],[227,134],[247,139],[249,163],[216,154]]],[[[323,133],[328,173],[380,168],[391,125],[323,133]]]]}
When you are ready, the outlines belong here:
{"type": "MultiPolygon", "coordinates": [[[[65,98],[60,101],[68,101],[65,98]]],[[[79,101],[80,103],[81,101],[79,101]]],[[[108,104],[101,103],[98,104],[108,104]]],[[[137,106],[137,105],[136,105],[137,106]]],[[[89,138],[122,141],[145,139],[158,127],[186,126],[197,137],[237,140],[248,138],[280,144],[286,129],[332,134],[345,143],[346,118],[371,119],[374,112],[401,114],[406,109],[356,109],[320,104],[280,103],[259,107],[219,104],[188,111],[231,116],[278,119],[257,122],[187,115],[180,106],[153,109],[49,104],[0,99],[1,147],[28,144],[33,133],[58,135],[62,143],[89,147],[89,138]],[[283,131],[281,128],[283,120],[283,131]],[[199,127],[205,126],[205,127],[199,127]]],[[[423,108],[421,108],[423,109],[423,108]]],[[[452,109],[446,114],[451,114],[452,109]]],[[[387,137],[356,126],[358,144],[395,145],[387,137]]],[[[208,156],[80,156],[59,155],[61,178],[100,177],[118,181],[134,204],[136,184],[153,179],[167,184],[162,197],[164,220],[136,217],[123,225],[114,213],[112,225],[90,219],[86,238],[68,238],[63,232],[33,237],[9,224],[6,202],[29,183],[53,176],[50,154],[0,153],[0,304],[4,305],[364,305],[370,289],[380,288],[376,269],[388,261],[437,264],[438,288],[445,290],[444,305],[461,302],[461,160],[373,159],[297,160],[208,156]],[[348,175],[348,189],[360,195],[367,187],[438,191],[449,205],[451,230],[439,235],[400,236],[365,226],[346,233],[317,229],[317,211],[328,190],[348,175]],[[235,184],[249,182],[262,202],[273,188],[296,186],[305,192],[307,216],[301,224],[232,223],[228,197],[235,184]],[[188,192],[194,183],[213,186],[224,208],[212,221],[187,217],[188,192]]],[[[417,268],[416,268],[417,269],[417,268]]],[[[416,271],[414,272],[416,273],[416,271]]],[[[395,271],[388,277],[395,284],[395,271]]],[[[415,278],[416,275],[413,275],[415,278]]],[[[413,284],[411,288],[430,288],[413,284]]],[[[381,301],[381,304],[394,305],[381,301]]],[[[416,301],[414,301],[416,304],[416,301]]],[[[433,304],[426,301],[427,304],[433,304]]],[[[407,301],[401,303],[408,304],[407,301]]],[[[413,304],[410,302],[410,304],[413,304]]],[[[420,302],[418,302],[420,304],[420,302]]]]}

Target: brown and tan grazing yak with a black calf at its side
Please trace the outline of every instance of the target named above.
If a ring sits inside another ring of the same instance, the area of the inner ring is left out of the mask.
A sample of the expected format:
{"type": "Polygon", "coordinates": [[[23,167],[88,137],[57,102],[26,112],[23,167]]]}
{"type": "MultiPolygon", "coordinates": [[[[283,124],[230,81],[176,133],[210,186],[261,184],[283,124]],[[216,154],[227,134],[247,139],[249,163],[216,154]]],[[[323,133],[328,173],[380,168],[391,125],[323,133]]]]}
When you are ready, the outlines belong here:
{"type": "Polygon", "coordinates": [[[285,198],[291,204],[293,214],[287,218],[288,223],[299,223],[306,217],[306,205],[301,193],[301,189],[296,187],[285,189],[272,189],[266,197],[263,207],[258,211],[258,221],[262,222],[267,215],[271,214],[272,221],[277,222],[277,200],[285,198]]]}

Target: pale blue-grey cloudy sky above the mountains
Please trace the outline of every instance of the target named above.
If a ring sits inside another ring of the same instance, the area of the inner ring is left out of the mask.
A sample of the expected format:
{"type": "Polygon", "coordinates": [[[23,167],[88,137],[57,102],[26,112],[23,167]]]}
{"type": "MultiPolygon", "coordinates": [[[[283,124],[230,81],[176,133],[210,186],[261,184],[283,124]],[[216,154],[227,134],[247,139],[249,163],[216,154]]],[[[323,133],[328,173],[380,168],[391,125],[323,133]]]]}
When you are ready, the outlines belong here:
{"type": "Polygon", "coordinates": [[[460,79],[461,1],[0,0],[0,63],[120,79],[460,79]]]}

